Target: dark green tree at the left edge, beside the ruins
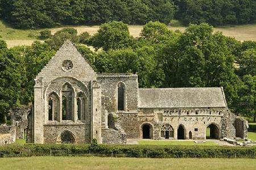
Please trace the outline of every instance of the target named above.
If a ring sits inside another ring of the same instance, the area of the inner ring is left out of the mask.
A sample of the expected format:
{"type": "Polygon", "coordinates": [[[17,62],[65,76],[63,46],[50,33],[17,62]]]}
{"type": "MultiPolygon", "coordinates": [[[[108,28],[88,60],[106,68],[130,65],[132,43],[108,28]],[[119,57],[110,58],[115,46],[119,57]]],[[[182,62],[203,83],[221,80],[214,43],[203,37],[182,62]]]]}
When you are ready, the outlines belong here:
{"type": "Polygon", "coordinates": [[[0,40],[0,123],[6,122],[6,115],[17,103],[20,95],[20,65],[0,40]]]}

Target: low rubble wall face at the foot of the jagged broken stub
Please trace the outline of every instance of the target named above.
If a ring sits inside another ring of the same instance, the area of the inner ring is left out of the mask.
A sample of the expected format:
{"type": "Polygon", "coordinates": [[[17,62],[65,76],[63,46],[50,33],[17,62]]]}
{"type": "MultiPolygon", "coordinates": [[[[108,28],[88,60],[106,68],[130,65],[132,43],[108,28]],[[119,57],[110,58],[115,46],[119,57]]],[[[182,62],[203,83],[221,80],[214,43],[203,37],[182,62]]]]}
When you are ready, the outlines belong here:
{"type": "Polygon", "coordinates": [[[120,133],[118,130],[114,129],[101,129],[102,143],[109,144],[125,144],[126,134],[120,133]]]}

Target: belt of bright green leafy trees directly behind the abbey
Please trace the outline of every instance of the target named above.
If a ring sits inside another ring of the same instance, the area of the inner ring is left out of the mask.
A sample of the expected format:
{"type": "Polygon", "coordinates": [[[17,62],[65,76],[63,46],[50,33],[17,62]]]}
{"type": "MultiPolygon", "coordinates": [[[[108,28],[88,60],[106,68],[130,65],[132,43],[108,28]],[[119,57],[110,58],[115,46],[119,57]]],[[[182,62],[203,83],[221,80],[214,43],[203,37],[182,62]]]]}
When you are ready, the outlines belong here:
{"type": "Polygon", "coordinates": [[[98,72],[137,73],[139,87],[224,87],[229,108],[256,117],[256,42],[240,42],[213,32],[208,24],[191,24],[184,33],[160,22],[148,22],[141,36],[130,36],[127,24],[108,22],[98,32],[77,36],[64,28],[45,42],[7,48],[0,41],[0,122],[15,105],[33,100],[36,74],[72,40],[98,72]],[[87,46],[91,45],[93,52],[87,46]]]}

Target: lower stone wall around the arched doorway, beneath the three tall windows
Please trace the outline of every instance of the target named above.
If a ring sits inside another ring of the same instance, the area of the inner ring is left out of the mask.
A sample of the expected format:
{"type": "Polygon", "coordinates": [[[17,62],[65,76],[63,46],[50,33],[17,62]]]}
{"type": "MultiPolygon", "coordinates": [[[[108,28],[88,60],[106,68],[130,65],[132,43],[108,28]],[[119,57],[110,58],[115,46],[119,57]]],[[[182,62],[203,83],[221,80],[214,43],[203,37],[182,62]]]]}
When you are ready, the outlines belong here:
{"type": "Polygon", "coordinates": [[[76,143],[90,143],[90,125],[44,125],[44,143],[60,143],[60,135],[63,131],[70,131],[76,139],[76,143]]]}

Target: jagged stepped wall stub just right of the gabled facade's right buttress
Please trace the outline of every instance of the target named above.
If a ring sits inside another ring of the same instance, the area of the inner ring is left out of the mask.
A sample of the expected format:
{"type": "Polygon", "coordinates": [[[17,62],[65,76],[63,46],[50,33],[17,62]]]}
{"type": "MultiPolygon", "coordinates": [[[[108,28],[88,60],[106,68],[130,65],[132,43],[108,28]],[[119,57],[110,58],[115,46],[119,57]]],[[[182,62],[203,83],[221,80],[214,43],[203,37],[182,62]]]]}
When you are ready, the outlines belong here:
{"type": "Polygon", "coordinates": [[[101,129],[102,143],[125,144],[127,135],[118,122],[117,114],[108,114],[108,125],[109,128],[101,129]]]}

